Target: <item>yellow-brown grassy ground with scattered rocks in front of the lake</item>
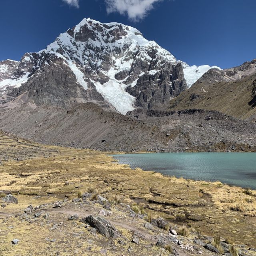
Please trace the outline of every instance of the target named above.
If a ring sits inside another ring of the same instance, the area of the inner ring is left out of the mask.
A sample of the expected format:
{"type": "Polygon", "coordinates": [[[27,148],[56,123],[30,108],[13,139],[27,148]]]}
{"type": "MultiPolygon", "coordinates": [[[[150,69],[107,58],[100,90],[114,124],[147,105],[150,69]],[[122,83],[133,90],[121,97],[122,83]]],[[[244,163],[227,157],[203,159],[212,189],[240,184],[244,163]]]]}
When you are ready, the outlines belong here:
{"type": "Polygon", "coordinates": [[[1,255],[256,255],[254,190],[0,136],[1,255]]]}

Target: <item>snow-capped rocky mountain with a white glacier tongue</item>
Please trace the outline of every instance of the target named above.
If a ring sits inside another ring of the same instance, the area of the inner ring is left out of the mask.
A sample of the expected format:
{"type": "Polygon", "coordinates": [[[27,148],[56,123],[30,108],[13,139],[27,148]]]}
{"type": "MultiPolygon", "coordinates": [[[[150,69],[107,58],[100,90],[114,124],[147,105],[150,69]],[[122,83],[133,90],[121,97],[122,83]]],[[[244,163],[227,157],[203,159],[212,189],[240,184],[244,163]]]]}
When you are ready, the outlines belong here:
{"type": "Polygon", "coordinates": [[[135,28],[87,18],[46,49],[0,62],[0,102],[68,107],[91,101],[122,114],[159,109],[210,68],[177,61],[135,28]]]}

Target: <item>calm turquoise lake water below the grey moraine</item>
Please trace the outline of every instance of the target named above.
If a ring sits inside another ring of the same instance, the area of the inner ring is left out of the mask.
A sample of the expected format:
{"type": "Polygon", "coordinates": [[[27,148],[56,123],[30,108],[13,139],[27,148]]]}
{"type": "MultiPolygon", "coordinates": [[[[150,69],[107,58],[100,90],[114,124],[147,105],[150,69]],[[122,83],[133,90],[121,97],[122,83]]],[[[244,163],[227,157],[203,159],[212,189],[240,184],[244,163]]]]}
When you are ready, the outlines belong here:
{"type": "Polygon", "coordinates": [[[256,189],[256,153],[149,153],[112,155],[120,164],[170,176],[256,189]]]}

